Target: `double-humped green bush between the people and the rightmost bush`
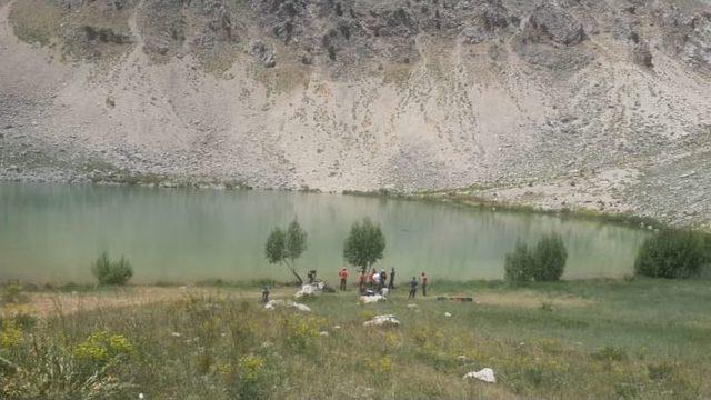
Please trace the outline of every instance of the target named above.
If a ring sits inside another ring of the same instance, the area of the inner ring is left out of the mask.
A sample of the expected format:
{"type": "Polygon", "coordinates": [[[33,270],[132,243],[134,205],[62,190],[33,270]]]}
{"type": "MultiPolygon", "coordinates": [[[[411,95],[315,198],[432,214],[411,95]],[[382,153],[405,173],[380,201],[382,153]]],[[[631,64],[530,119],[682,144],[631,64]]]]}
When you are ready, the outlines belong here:
{"type": "Polygon", "coordinates": [[[519,243],[505,257],[504,277],[511,282],[548,282],[560,280],[565,270],[568,251],[555,233],[542,237],[534,248],[519,243]]]}

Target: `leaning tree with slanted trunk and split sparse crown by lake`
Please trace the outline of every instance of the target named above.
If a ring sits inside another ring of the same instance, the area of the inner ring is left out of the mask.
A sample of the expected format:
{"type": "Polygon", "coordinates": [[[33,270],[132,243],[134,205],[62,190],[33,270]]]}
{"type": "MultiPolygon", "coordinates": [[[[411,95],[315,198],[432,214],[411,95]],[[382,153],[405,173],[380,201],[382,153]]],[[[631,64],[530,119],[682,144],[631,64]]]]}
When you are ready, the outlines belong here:
{"type": "Polygon", "coordinates": [[[264,253],[269,263],[284,264],[297,278],[299,284],[303,284],[303,279],[297,272],[296,261],[306,250],[307,232],[301,229],[299,221],[294,218],[286,231],[281,228],[274,228],[269,233],[264,253]]]}

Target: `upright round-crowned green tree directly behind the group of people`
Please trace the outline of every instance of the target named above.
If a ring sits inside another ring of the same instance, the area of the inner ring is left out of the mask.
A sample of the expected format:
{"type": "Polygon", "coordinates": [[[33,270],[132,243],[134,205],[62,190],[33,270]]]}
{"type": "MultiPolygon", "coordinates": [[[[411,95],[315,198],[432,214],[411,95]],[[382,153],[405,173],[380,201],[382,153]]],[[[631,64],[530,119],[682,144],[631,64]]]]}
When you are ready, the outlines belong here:
{"type": "Polygon", "coordinates": [[[382,258],[385,250],[385,237],[380,226],[373,223],[370,218],[362,222],[354,222],[343,243],[343,258],[351,266],[358,266],[368,270],[375,261],[382,258]]]}

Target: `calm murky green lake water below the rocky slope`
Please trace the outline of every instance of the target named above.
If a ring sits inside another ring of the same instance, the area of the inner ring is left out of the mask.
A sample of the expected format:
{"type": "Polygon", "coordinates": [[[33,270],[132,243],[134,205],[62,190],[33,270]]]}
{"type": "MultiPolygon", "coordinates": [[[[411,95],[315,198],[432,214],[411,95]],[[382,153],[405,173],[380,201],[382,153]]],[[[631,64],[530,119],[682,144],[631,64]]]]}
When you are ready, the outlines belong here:
{"type": "Polygon", "coordinates": [[[399,280],[427,271],[433,282],[502,278],[517,241],[551,231],[568,247],[565,278],[621,277],[648,234],[590,219],[340,194],[0,183],[0,280],[88,282],[104,250],[129,258],[134,282],[288,280],[266,261],[264,242],[294,216],[309,234],[298,266],[333,281],[349,227],[363,217],[383,228],[381,267],[394,267],[399,280]]]}

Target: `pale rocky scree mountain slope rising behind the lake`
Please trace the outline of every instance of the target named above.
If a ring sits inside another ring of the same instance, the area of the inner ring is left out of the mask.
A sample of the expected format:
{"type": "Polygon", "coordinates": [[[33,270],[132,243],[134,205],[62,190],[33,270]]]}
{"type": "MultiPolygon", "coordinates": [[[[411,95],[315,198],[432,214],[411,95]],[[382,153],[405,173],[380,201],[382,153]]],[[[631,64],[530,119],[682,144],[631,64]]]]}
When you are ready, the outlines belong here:
{"type": "Polygon", "coordinates": [[[0,178],[711,226],[704,0],[0,0],[0,178]]]}

